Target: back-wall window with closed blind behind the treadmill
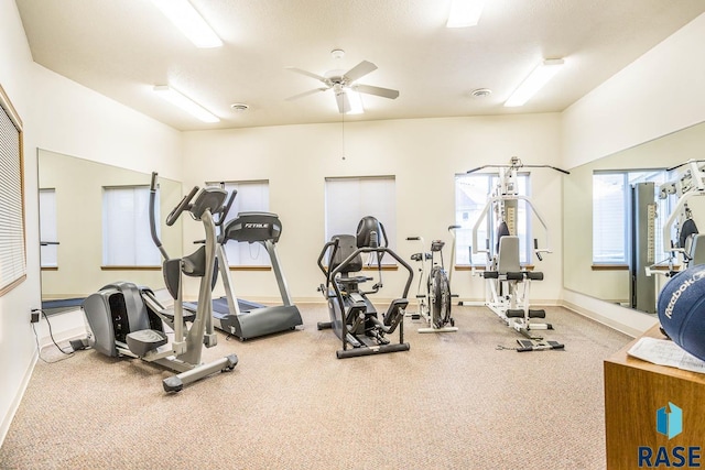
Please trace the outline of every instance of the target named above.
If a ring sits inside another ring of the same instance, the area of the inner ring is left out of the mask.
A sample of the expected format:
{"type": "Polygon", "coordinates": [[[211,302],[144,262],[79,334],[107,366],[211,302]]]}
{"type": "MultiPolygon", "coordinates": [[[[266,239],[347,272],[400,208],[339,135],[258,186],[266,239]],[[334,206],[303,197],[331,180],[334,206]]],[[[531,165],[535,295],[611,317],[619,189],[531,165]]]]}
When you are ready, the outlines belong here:
{"type": "MultiPolygon", "coordinates": [[[[226,221],[235,219],[240,212],[269,211],[269,182],[228,182],[225,184],[228,194],[237,190],[235,201],[226,217],[226,221]]],[[[282,227],[282,231],[284,227],[282,227]]],[[[225,245],[226,256],[230,266],[268,266],[269,253],[261,243],[246,243],[229,241],[225,245]]]]}

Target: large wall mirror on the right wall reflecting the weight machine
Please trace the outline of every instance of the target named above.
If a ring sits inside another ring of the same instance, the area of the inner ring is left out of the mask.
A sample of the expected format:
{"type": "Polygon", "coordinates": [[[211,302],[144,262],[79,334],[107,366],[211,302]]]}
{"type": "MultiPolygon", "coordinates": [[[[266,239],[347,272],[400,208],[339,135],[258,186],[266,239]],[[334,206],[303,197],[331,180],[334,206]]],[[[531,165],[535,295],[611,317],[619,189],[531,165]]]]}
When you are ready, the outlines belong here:
{"type": "MultiPolygon", "coordinates": [[[[565,288],[601,300],[631,306],[628,267],[623,264],[604,265],[596,263],[594,259],[594,237],[599,234],[594,233],[593,175],[605,171],[668,168],[691,159],[705,159],[705,123],[571,168],[571,174],[564,176],[563,183],[565,288]]],[[[688,204],[693,208],[693,219],[701,232],[704,232],[705,197],[691,200],[688,204]]],[[[669,214],[657,212],[657,217],[665,220],[669,214]]],[[[657,293],[665,280],[664,276],[654,276],[657,293]]]]}

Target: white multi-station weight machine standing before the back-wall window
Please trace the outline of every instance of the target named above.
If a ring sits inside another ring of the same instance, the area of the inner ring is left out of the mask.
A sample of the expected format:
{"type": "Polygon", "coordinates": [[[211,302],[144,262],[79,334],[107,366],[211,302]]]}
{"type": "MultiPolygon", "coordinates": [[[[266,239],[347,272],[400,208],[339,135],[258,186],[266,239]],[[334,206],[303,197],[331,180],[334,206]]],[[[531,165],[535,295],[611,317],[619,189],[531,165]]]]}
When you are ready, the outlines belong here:
{"type": "MultiPolygon", "coordinates": [[[[531,308],[529,305],[531,283],[543,281],[543,273],[529,271],[521,266],[517,231],[519,201],[525,204],[545,232],[545,248],[539,248],[539,240],[534,239],[533,252],[536,259],[542,261],[543,254],[551,253],[551,250],[549,249],[549,230],[545,221],[533,207],[531,200],[518,192],[518,172],[522,167],[547,167],[564,174],[570,173],[550,165],[524,165],[517,156],[512,156],[507,165],[484,165],[467,173],[475,173],[487,167],[498,168],[499,178],[473,227],[473,244],[470,247],[470,263],[473,254],[487,254],[487,265],[481,273],[487,283],[485,305],[497,314],[507,326],[527,337],[525,340],[518,340],[520,345],[518,351],[563,349],[564,345],[557,341],[544,341],[543,337],[534,335],[534,330],[553,329],[553,326],[546,323],[536,323],[535,319],[545,318],[545,310],[531,308]],[[488,227],[489,232],[484,250],[478,249],[477,243],[477,233],[482,223],[488,227]],[[495,227],[496,230],[492,231],[490,227],[495,227]]],[[[475,267],[473,271],[474,274],[477,274],[475,267]]]]}

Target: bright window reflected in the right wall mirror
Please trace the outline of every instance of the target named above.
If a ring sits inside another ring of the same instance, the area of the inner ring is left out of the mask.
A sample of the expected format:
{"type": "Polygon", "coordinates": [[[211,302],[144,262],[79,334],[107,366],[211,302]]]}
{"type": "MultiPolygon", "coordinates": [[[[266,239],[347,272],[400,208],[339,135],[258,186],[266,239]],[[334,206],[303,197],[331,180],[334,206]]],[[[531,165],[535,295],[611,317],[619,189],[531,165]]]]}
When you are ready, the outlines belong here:
{"type": "MultiPolygon", "coordinates": [[[[654,189],[666,182],[663,170],[595,172],[593,174],[593,263],[628,264],[631,247],[630,190],[638,183],[653,182],[654,189]]],[[[658,199],[655,218],[655,260],[668,259],[663,252],[663,222],[670,200],[658,199]]]]}

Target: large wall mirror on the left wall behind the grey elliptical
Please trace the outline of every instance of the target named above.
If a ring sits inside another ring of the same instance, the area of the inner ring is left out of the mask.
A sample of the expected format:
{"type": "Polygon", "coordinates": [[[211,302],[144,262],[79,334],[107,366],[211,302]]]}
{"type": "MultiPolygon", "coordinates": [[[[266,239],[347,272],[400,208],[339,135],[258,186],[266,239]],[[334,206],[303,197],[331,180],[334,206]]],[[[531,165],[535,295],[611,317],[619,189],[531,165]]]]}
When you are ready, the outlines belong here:
{"type": "MultiPolygon", "coordinates": [[[[116,220],[126,217],[132,206],[142,212],[139,220],[149,214],[149,197],[144,199],[144,193],[149,195],[151,175],[43,149],[37,151],[37,163],[45,311],[77,308],[87,295],[116,281],[162,288],[162,260],[149,238],[149,223],[116,220]],[[107,192],[129,188],[137,188],[140,195],[133,201],[107,201],[107,192]],[[113,217],[106,214],[107,204],[112,204],[113,217]],[[141,233],[132,233],[131,225],[141,233]],[[143,242],[145,237],[147,243],[135,248],[134,240],[143,242]],[[123,243],[124,251],[133,251],[133,261],[110,258],[115,252],[122,253],[120,248],[111,250],[113,254],[106,253],[106,240],[111,247],[123,243]]],[[[159,184],[160,237],[169,253],[181,253],[181,220],[172,227],[166,227],[164,220],[181,200],[182,185],[162,177],[159,184]]]]}

